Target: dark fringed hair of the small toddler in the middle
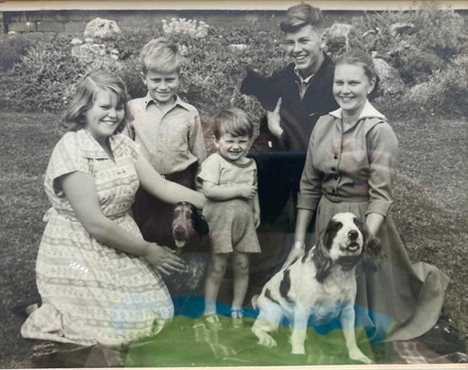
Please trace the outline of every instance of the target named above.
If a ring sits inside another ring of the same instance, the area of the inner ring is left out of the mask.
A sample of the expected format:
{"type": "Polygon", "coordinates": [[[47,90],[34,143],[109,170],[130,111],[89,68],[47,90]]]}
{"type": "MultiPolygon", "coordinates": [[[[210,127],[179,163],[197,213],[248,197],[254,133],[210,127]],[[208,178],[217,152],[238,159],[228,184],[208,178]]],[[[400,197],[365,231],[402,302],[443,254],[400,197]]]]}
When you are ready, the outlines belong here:
{"type": "Polygon", "coordinates": [[[244,110],[230,107],[216,113],[212,132],[217,140],[223,134],[230,134],[232,137],[247,136],[252,138],[254,137],[254,125],[244,110]]]}

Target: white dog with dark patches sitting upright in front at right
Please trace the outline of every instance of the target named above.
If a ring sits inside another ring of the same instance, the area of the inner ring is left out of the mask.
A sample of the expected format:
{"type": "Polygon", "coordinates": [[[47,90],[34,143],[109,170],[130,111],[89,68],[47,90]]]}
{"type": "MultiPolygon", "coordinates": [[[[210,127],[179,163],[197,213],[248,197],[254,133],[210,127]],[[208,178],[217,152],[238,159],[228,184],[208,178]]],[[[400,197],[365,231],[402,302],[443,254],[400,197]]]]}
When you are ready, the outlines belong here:
{"type": "Polygon", "coordinates": [[[371,363],[358,348],[354,334],[356,264],[364,259],[372,266],[380,251],[380,243],[369,238],[366,230],[352,213],[336,214],[318,245],[265,284],[257,300],[260,312],[252,327],[259,344],[276,346],[268,332],[277,330],[286,316],[292,327],[291,353],[305,354],[309,317],[314,325],[340,317],[349,357],[371,363]]]}

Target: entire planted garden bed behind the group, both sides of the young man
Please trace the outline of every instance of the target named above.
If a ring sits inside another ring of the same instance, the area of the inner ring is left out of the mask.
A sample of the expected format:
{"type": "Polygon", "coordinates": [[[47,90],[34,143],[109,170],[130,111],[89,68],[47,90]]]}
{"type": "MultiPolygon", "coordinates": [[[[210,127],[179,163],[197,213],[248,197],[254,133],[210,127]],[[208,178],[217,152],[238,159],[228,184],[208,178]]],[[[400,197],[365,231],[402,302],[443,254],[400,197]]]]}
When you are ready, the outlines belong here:
{"type": "MultiPolygon", "coordinates": [[[[361,48],[396,68],[406,89],[403,98],[379,98],[377,104],[387,115],[444,113],[444,107],[455,115],[464,114],[468,36],[459,14],[431,3],[407,12],[365,13],[351,23],[348,37],[329,37],[328,52],[335,56],[347,48],[361,48]]],[[[123,30],[107,40],[59,36],[28,48],[12,42],[19,50],[16,55],[23,55],[9,70],[0,71],[0,84],[7,86],[0,91],[0,108],[63,110],[74,84],[96,68],[121,75],[133,98],[144,96],[139,53],[147,41],[160,36],[181,46],[186,62],[179,93],[195,105],[204,120],[209,121],[223,106],[237,104],[258,121],[263,114],[260,105],[240,95],[238,88],[246,66],[270,75],[285,65],[279,31],[263,31],[256,24],[214,29],[185,19],[154,24],[149,30],[123,30]]],[[[0,50],[5,45],[5,40],[0,42],[0,50]]]]}

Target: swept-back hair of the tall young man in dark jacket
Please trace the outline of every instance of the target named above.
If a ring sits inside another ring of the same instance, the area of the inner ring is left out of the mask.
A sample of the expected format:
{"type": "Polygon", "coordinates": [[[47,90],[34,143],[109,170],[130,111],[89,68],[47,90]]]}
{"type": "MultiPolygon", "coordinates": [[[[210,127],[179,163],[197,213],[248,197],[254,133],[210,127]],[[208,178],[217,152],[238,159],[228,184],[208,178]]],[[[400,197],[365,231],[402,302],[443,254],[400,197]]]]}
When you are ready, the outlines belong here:
{"type": "Polygon", "coordinates": [[[283,32],[296,32],[304,26],[311,25],[317,30],[324,28],[324,17],[319,8],[309,4],[291,6],[280,23],[283,32]]]}

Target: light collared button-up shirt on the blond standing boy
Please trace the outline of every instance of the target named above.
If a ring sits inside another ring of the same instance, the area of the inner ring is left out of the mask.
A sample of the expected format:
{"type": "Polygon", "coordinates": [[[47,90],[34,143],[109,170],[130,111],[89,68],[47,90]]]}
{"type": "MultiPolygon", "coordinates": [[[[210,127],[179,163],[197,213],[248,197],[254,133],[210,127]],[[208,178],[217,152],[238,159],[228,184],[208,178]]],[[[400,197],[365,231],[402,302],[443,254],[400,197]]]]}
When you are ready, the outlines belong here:
{"type": "Polygon", "coordinates": [[[204,134],[198,111],[177,95],[166,111],[148,93],[128,102],[133,119],[126,135],[141,146],[142,154],[160,174],[186,170],[206,158],[204,134]]]}

